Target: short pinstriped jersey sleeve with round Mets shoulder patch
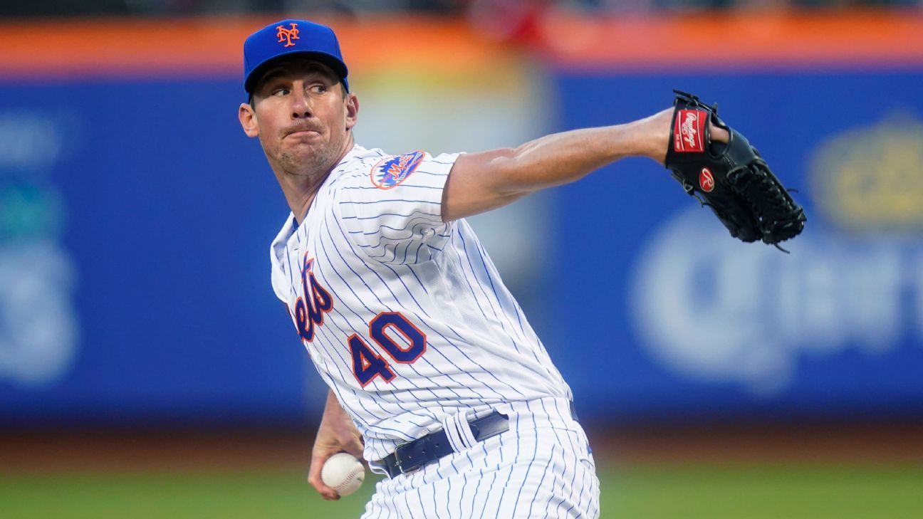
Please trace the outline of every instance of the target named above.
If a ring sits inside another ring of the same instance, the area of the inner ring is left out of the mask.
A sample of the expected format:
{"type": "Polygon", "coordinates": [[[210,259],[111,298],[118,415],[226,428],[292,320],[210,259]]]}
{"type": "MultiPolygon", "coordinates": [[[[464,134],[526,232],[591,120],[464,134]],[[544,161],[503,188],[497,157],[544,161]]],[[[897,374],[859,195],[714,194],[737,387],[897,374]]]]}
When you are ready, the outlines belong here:
{"type": "Polygon", "coordinates": [[[385,263],[432,259],[454,226],[442,222],[442,190],[458,156],[391,155],[344,178],[337,203],[350,240],[385,263]]]}

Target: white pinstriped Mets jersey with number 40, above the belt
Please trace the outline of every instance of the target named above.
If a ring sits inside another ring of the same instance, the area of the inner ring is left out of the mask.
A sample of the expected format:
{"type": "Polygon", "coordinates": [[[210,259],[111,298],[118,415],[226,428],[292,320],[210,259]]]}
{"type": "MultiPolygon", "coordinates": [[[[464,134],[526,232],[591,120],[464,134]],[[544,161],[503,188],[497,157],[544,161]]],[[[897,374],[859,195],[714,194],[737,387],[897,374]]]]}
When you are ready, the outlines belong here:
{"type": "Polygon", "coordinates": [[[442,222],[457,157],[355,146],[270,248],[273,289],[368,460],[466,409],[571,398],[471,227],[442,222]]]}

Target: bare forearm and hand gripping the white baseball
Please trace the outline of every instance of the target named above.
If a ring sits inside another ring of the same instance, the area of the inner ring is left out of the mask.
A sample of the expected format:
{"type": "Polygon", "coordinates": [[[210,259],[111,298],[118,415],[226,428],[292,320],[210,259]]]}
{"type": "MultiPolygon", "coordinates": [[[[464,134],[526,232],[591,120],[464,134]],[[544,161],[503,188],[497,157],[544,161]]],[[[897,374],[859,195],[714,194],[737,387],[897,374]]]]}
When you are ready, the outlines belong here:
{"type": "Polygon", "coordinates": [[[350,453],[361,460],[362,451],[362,435],[355,428],[353,420],[343,411],[336,396],[330,392],[327,405],[324,407],[324,416],[318,427],[318,436],[311,450],[311,468],[307,473],[307,482],[317,489],[325,500],[339,500],[340,494],[321,481],[320,469],[333,454],[350,453]]]}

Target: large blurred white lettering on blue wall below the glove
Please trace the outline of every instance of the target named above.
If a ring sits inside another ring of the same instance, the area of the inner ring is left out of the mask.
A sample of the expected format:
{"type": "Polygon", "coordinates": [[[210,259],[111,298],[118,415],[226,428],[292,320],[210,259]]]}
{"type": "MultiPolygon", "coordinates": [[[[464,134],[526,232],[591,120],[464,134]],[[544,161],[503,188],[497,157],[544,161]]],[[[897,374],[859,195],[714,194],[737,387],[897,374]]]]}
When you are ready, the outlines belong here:
{"type": "Polygon", "coordinates": [[[815,224],[785,247],[741,243],[709,211],[677,214],[635,268],[629,308],[643,346],[689,379],[772,394],[802,357],[923,342],[923,243],[815,224]]]}

